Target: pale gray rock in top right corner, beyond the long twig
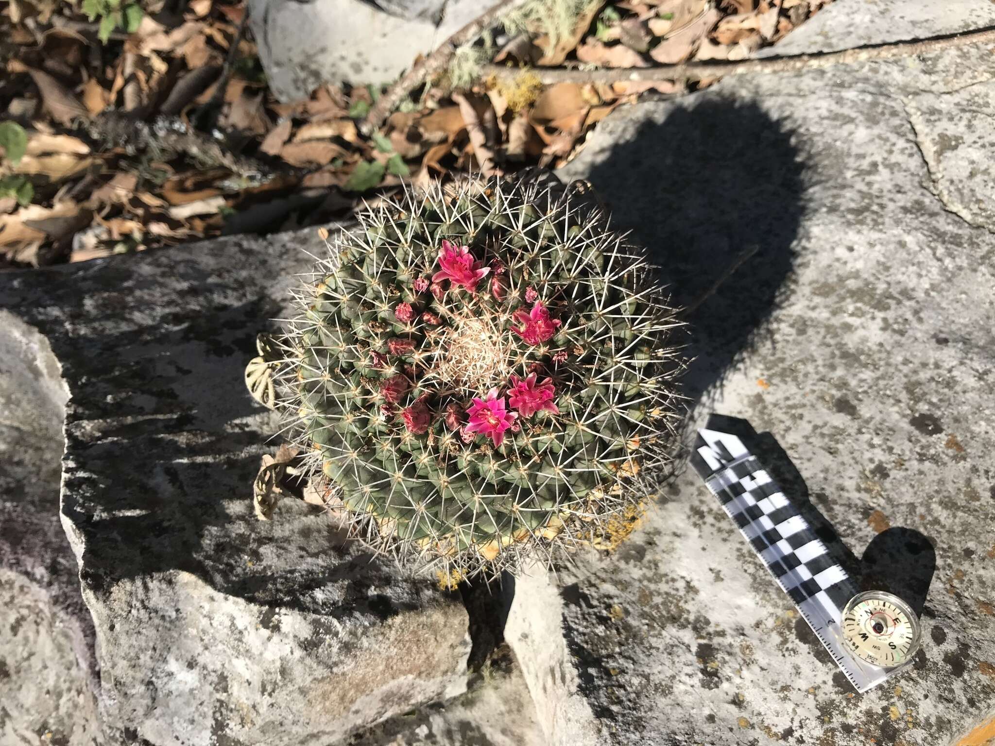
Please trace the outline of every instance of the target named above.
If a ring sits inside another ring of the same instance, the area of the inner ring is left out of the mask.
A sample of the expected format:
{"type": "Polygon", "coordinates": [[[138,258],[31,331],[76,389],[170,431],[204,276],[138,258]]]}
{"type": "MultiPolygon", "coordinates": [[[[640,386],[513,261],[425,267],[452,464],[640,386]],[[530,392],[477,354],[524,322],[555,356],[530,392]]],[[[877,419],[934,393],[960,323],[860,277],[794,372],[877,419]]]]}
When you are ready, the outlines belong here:
{"type": "Polygon", "coordinates": [[[836,52],[995,26],[988,0],[834,0],[755,57],[836,52]]]}

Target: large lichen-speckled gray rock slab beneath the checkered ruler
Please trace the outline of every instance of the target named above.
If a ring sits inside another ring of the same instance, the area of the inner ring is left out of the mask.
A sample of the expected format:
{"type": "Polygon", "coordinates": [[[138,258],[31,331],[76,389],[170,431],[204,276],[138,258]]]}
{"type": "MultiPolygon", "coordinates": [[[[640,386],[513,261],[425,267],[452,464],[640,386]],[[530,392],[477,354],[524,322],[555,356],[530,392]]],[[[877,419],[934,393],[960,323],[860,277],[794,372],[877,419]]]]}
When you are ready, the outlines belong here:
{"type": "Polygon", "coordinates": [[[757,247],[690,316],[690,425],[769,433],[923,640],[857,694],[685,469],[614,556],[516,586],[507,639],[551,743],[937,746],[995,715],[995,226],[990,182],[951,160],[995,138],[993,76],[983,49],[729,80],[620,109],[563,169],[678,303],[757,247]]]}

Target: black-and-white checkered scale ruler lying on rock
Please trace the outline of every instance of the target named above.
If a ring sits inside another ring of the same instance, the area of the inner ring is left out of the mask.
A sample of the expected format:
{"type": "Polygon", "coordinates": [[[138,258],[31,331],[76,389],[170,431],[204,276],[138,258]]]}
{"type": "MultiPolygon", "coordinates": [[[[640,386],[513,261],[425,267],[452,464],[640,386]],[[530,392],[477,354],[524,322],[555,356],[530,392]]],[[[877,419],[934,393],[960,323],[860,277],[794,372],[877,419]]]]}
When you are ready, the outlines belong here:
{"type": "Polygon", "coordinates": [[[843,608],[857,584],[763,465],[739,438],[715,430],[698,431],[692,464],[854,687],[865,692],[882,683],[889,670],[844,647],[843,608]]]}

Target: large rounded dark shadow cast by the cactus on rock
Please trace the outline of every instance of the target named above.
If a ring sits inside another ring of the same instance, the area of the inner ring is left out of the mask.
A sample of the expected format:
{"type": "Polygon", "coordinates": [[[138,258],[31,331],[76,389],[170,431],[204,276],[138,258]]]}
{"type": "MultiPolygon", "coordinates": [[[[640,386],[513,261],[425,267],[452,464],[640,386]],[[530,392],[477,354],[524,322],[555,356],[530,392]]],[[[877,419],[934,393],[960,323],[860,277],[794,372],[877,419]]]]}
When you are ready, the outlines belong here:
{"type": "Polygon", "coordinates": [[[791,274],[804,212],[792,133],[752,103],[688,99],[642,124],[588,175],[619,229],[632,229],[678,306],[693,304],[744,251],[755,253],[687,316],[684,378],[699,399],[755,346],[791,274]]]}

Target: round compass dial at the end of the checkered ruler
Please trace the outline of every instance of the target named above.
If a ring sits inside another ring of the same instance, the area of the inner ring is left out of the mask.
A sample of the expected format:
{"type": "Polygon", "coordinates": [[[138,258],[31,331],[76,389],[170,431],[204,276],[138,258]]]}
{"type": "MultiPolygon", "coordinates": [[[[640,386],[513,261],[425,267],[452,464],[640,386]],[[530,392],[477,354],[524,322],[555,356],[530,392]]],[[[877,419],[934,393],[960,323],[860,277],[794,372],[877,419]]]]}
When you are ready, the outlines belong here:
{"type": "Polygon", "coordinates": [[[897,596],[868,591],[854,596],[843,610],[843,639],[861,660],[893,668],[918,650],[919,622],[897,596]]]}

